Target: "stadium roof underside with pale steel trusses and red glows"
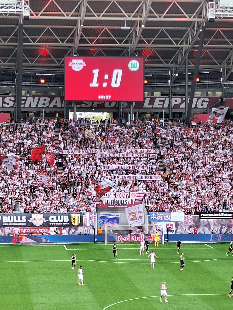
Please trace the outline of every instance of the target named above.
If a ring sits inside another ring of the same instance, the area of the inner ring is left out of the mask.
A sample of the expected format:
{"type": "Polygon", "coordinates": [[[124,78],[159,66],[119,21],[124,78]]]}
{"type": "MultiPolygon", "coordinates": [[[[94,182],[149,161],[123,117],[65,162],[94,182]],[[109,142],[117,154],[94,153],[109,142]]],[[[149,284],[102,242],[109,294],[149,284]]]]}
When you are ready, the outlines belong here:
{"type": "MultiPolygon", "coordinates": [[[[233,19],[207,22],[204,0],[30,0],[24,20],[23,66],[63,68],[66,55],[145,57],[147,69],[194,67],[200,29],[206,32],[200,68],[233,70],[233,19]],[[121,29],[127,27],[127,29],[121,29]]],[[[16,67],[19,16],[0,15],[0,67],[16,67]]]]}

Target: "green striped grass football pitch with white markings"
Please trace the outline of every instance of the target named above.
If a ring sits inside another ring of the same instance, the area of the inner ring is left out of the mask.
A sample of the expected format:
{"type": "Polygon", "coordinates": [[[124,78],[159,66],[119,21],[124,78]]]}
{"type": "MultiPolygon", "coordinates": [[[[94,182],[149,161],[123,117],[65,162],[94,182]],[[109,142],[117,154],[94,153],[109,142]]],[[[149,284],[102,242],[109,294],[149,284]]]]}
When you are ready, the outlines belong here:
{"type": "Polygon", "coordinates": [[[4,310],[219,310],[229,298],[233,257],[228,244],[183,243],[185,267],[175,243],[149,245],[159,256],[155,268],[139,244],[0,245],[0,291],[4,310]],[[71,255],[76,253],[75,270],[71,255]],[[83,266],[85,286],[77,285],[83,266]],[[166,281],[168,303],[159,301],[166,281]]]}

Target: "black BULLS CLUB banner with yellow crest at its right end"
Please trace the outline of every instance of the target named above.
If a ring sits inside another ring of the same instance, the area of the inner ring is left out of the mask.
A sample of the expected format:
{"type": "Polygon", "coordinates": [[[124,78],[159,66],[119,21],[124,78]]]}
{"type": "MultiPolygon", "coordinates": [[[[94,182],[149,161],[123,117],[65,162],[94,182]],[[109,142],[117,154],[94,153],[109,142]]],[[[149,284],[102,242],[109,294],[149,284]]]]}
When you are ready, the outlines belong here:
{"type": "Polygon", "coordinates": [[[0,227],[83,226],[82,213],[23,213],[0,215],[0,227]]]}

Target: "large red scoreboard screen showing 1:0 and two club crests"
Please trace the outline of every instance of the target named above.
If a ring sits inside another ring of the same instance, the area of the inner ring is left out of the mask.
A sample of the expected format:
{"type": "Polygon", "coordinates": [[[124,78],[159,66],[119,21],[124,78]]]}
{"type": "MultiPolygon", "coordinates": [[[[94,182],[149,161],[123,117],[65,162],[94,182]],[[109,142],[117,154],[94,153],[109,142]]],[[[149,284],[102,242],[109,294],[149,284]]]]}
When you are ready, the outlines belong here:
{"type": "Polygon", "coordinates": [[[143,101],[143,57],[66,57],[65,100],[143,101]]]}

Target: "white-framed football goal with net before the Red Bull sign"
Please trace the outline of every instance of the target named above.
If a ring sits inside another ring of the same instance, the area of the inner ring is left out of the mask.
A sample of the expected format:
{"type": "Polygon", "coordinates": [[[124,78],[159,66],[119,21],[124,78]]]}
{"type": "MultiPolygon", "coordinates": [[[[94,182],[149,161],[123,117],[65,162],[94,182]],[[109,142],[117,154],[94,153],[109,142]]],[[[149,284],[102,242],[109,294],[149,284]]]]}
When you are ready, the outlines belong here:
{"type": "Polygon", "coordinates": [[[108,242],[140,242],[143,240],[155,241],[155,234],[159,234],[159,242],[164,244],[163,225],[105,225],[104,244],[108,242]]]}

